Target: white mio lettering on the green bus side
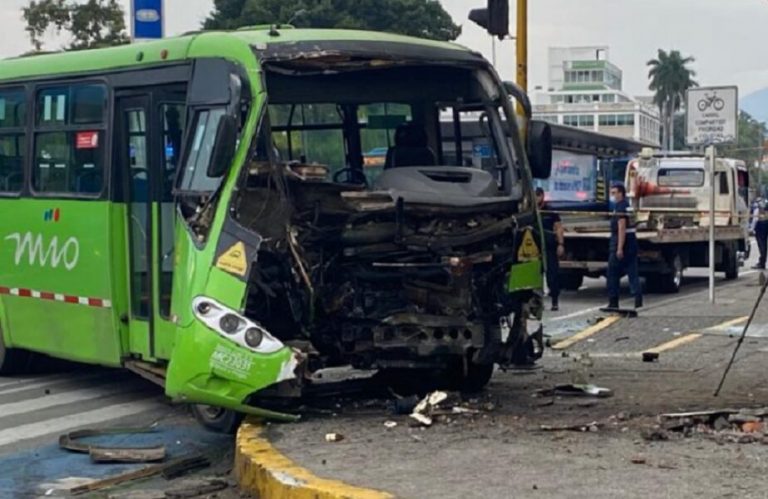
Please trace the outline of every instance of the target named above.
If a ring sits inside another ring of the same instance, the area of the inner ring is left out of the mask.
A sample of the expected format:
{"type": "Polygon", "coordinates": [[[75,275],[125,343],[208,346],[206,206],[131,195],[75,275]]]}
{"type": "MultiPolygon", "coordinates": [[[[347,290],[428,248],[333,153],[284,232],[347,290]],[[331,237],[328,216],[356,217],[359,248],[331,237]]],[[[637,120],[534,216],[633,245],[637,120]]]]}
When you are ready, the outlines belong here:
{"type": "Polygon", "coordinates": [[[60,244],[58,236],[53,236],[46,244],[42,234],[17,232],[5,236],[5,240],[16,242],[14,255],[16,266],[21,264],[26,256],[30,265],[55,269],[63,264],[64,268],[72,270],[77,266],[80,259],[80,243],[74,237],[70,237],[60,244]]]}

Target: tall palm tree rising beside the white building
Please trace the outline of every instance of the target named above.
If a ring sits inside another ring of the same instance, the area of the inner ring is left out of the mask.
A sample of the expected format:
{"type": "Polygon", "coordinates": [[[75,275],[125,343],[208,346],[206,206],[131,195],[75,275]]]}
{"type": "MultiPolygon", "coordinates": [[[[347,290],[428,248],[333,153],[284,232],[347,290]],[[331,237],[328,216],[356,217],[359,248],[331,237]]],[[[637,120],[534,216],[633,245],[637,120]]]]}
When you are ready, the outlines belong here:
{"type": "Polygon", "coordinates": [[[659,49],[658,57],[648,61],[648,78],[651,80],[648,88],[656,93],[653,101],[659,106],[664,131],[662,147],[667,150],[674,147],[674,116],[683,104],[685,92],[699,86],[693,79],[696,72],[688,68],[695,60],[683,57],[678,50],[666,52],[659,49]]]}

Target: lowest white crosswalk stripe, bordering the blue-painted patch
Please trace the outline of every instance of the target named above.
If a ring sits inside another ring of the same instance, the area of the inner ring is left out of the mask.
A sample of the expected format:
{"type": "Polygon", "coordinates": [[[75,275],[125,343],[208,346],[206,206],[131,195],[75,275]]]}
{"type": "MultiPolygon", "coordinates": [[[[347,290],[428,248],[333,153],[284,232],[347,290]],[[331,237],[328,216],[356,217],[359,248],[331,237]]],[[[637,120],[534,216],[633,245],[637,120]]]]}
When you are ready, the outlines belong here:
{"type": "Polygon", "coordinates": [[[125,404],[115,404],[92,411],[70,414],[47,421],[39,421],[26,425],[0,430],[0,446],[13,444],[23,440],[42,437],[50,434],[60,434],[83,426],[95,425],[112,421],[141,412],[151,411],[160,407],[159,398],[137,400],[125,404]]]}

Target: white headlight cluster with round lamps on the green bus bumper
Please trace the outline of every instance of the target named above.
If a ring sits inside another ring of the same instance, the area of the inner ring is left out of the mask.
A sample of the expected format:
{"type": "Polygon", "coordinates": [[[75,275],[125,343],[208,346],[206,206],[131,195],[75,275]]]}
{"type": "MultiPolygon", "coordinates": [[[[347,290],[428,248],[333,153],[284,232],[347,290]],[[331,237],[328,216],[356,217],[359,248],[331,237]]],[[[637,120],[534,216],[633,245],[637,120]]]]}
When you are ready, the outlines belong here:
{"type": "Polygon", "coordinates": [[[195,298],[192,310],[200,322],[241,347],[259,353],[274,353],[285,347],[259,324],[211,298],[195,298]]]}

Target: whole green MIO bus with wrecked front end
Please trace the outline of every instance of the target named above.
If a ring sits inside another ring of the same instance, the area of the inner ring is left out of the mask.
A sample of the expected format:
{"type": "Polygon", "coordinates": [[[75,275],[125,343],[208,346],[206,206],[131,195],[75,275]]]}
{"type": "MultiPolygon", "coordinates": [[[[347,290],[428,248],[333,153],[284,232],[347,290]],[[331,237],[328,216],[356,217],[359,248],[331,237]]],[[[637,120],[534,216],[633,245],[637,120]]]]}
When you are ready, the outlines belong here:
{"type": "Polygon", "coordinates": [[[480,55],[382,33],[0,61],[0,374],[126,367],[223,427],[322,369],[480,388],[533,361],[551,140],[513,105],[480,55]]]}

